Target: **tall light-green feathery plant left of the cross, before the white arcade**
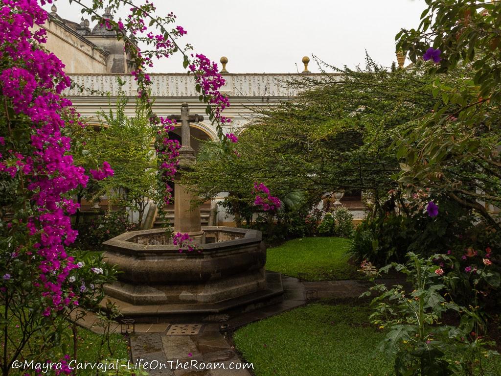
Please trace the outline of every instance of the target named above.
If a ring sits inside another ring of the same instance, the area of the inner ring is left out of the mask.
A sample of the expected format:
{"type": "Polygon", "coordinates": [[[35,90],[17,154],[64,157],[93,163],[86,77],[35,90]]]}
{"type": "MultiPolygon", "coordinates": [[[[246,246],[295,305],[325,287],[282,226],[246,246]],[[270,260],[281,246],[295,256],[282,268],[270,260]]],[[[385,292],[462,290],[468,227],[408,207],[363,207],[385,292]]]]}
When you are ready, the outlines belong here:
{"type": "Polygon", "coordinates": [[[138,225],[141,226],[145,208],[154,197],[156,183],[154,130],[139,100],[136,101],[134,116],[127,116],[129,98],[122,90],[125,82],[118,78],[117,83],[120,89],[116,102],[112,103],[108,95],[109,110],[98,113],[102,126],[99,130],[88,127],[84,135],[85,164],[94,161],[99,164],[99,161],[107,160],[114,169],[113,176],[98,181],[92,187],[90,196],[96,200],[106,195],[110,205],[137,212],[138,225]]]}

